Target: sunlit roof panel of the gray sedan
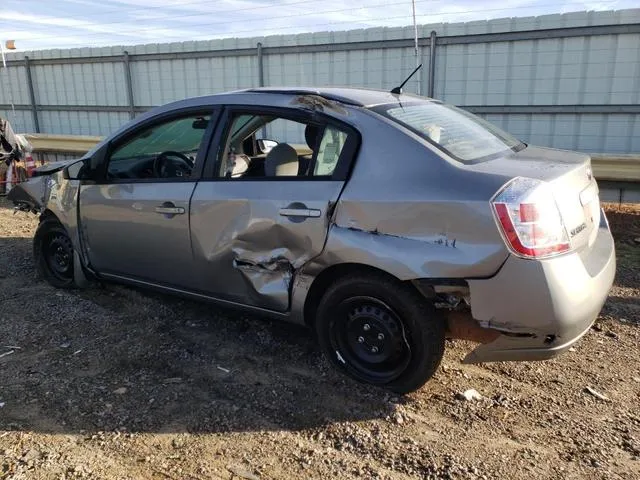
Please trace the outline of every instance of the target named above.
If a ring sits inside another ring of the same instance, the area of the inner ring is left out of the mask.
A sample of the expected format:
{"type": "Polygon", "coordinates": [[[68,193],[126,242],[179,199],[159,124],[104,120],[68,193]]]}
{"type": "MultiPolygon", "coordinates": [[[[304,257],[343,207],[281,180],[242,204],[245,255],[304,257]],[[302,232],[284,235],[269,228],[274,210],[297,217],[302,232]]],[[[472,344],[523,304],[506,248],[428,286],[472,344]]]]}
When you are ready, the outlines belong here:
{"type": "Polygon", "coordinates": [[[318,95],[328,100],[358,107],[372,107],[387,103],[397,103],[398,100],[430,100],[426,97],[419,97],[410,93],[397,95],[386,90],[351,87],[260,87],[242,90],[238,93],[242,92],[282,95],[318,95]]]}

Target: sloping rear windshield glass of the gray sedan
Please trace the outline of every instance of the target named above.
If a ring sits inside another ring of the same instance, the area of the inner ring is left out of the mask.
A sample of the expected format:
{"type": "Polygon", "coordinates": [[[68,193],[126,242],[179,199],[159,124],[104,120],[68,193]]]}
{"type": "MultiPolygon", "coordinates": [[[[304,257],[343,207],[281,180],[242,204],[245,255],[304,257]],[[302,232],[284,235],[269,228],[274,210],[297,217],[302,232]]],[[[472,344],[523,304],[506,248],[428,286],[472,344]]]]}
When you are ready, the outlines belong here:
{"type": "Polygon", "coordinates": [[[460,162],[476,162],[525,145],[495,125],[451,105],[388,104],[372,110],[409,128],[460,162]]]}

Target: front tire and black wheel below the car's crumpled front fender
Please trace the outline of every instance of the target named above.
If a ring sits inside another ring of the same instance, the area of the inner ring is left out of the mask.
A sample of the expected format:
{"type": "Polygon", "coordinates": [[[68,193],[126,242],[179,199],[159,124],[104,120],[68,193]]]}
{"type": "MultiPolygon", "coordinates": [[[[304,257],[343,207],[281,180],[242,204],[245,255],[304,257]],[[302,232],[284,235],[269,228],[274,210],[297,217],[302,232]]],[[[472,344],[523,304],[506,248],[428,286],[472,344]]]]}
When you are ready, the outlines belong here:
{"type": "Polygon", "coordinates": [[[73,243],[62,224],[53,217],[38,225],[33,238],[38,273],[56,288],[74,288],[73,243]]]}

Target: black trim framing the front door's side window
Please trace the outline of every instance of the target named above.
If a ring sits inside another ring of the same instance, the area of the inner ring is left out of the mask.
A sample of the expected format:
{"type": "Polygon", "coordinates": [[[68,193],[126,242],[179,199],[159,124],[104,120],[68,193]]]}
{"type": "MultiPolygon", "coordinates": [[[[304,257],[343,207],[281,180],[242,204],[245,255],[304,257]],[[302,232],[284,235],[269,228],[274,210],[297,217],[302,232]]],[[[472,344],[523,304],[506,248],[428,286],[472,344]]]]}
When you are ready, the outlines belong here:
{"type": "Polygon", "coordinates": [[[106,145],[106,152],[104,160],[98,169],[97,184],[128,184],[128,183],[185,183],[185,182],[197,182],[202,178],[202,174],[206,167],[206,160],[208,158],[207,152],[211,147],[211,140],[213,133],[220,120],[220,107],[215,105],[201,105],[196,107],[186,107],[169,112],[163,112],[151,118],[148,118],[142,122],[136,123],[131,128],[125,130],[120,135],[112,139],[106,145]],[[171,178],[108,178],[107,172],[109,169],[109,163],[111,161],[111,155],[114,151],[125,144],[127,141],[140,134],[142,131],[163,123],[168,123],[173,120],[179,120],[180,118],[195,116],[198,114],[209,115],[209,125],[204,131],[198,153],[196,154],[195,167],[192,175],[189,177],[171,177],[171,178]]]}

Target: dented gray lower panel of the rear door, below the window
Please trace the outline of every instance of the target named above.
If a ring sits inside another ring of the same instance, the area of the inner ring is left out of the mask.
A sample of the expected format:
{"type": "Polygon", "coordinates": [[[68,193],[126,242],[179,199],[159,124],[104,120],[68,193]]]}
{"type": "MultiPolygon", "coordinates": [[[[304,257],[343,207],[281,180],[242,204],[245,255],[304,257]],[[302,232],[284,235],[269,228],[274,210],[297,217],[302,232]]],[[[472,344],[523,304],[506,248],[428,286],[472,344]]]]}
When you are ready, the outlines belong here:
{"type": "Polygon", "coordinates": [[[191,200],[193,288],[276,311],[296,271],[318,256],[343,182],[200,182],[191,200]],[[298,215],[299,213],[299,215],[298,215]]]}

